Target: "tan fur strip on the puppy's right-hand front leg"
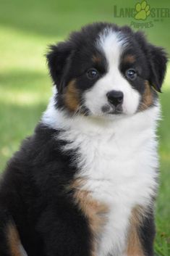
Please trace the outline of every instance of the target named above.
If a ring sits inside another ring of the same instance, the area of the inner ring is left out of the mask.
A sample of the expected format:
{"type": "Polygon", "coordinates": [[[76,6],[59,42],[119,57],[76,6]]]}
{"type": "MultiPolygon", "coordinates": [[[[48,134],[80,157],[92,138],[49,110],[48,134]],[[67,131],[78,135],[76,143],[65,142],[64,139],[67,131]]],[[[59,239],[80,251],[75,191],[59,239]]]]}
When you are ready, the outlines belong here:
{"type": "Polygon", "coordinates": [[[144,214],[145,212],[142,207],[136,207],[132,210],[127,239],[127,256],[145,256],[138,234],[140,223],[143,222],[144,214]]]}

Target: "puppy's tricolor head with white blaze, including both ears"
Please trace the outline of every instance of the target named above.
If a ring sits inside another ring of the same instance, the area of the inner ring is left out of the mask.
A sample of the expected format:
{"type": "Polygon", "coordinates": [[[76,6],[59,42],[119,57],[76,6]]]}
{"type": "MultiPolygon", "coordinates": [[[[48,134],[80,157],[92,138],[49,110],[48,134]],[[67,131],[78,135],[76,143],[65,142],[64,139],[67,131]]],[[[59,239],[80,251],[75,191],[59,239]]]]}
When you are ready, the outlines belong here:
{"type": "Polygon", "coordinates": [[[56,107],[94,116],[133,115],[156,104],[166,53],[140,32],[94,23],[51,46],[56,107]]]}

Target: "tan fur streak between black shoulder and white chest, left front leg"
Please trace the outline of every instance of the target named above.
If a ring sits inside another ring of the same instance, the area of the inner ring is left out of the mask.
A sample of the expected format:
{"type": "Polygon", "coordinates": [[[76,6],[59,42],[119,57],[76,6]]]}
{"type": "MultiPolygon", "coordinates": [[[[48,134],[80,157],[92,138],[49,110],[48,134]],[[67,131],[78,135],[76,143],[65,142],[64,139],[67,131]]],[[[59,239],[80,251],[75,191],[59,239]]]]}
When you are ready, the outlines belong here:
{"type": "Polygon", "coordinates": [[[93,234],[91,256],[96,256],[96,242],[103,225],[106,223],[106,213],[109,211],[109,207],[93,199],[90,191],[83,189],[84,184],[85,180],[77,178],[74,183],[72,183],[72,189],[75,189],[74,197],[76,204],[80,207],[85,217],[88,218],[90,230],[93,234]]]}

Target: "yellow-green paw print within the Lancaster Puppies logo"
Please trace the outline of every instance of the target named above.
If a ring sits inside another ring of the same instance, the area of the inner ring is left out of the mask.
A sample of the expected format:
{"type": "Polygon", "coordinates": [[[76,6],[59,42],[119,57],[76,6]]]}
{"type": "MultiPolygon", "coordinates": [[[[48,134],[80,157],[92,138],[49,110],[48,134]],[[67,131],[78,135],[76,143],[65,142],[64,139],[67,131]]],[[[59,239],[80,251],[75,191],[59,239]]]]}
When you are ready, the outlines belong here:
{"type": "Polygon", "coordinates": [[[146,18],[150,15],[150,6],[148,5],[147,1],[137,3],[135,10],[137,12],[135,15],[136,20],[146,20],[146,18]]]}

